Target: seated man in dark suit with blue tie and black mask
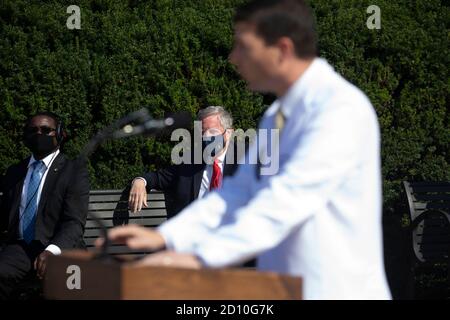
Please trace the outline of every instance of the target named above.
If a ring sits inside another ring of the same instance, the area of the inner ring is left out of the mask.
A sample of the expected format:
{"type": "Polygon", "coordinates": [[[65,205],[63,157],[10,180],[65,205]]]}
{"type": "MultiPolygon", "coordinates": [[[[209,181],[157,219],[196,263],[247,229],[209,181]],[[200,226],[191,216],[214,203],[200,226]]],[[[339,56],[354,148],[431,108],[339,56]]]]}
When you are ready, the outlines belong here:
{"type": "Polygon", "coordinates": [[[49,255],[82,244],[89,202],[86,167],[59,150],[66,134],[58,117],[40,112],[24,128],[32,155],[7,169],[0,191],[0,299],[49,255]]]}

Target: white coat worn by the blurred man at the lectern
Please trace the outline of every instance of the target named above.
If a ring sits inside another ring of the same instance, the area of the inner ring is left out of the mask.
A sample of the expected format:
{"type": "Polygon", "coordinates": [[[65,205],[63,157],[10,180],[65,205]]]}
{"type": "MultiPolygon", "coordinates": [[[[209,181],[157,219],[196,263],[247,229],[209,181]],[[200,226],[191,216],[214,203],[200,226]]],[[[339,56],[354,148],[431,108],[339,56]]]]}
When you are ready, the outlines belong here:
{"type": "MultiPolygon", "coordinates": [[[[254,166],[241,165],[221,190],[159,227],[168,248],[209,267],[258,256],[259,270],[301,276],[305,299],[390,299],[370,101],[316,58],[260,128],[274,127],[280,105],[278,173],[257,179],[254,166]]],[[[253,144],[250,156],[256,151],[253,144]]]]}

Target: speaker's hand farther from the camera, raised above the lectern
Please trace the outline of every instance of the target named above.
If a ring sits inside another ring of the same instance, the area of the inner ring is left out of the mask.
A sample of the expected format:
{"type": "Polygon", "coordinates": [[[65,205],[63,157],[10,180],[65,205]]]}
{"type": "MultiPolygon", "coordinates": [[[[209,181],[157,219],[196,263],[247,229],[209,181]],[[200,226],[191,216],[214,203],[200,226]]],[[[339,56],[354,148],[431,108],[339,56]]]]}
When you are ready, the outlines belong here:
{"type": "MultiPolygon", "coordinates": [[[[159,250],[166,246],[158,232],[134,224],[111,229],[108,239],[113,243],[125,244],[130,249],[159,250]]],[[[103,238],[98,238],[95,245],[100,247],[103,241],[103,238]]]]}

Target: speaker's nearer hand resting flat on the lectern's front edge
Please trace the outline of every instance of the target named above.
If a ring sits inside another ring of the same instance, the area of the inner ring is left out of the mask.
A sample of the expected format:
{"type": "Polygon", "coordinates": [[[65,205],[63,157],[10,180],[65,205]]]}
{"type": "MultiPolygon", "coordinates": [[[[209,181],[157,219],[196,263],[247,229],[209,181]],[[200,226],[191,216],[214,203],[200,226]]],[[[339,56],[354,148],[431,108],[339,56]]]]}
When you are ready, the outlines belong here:
{"type": "Polygon", "coordinates": [[[134,266],[163,266],[188,269],[200,269],[201,262],[192,254],[163,251],[149,254],[143,259],[133,263],[134,266]]]}

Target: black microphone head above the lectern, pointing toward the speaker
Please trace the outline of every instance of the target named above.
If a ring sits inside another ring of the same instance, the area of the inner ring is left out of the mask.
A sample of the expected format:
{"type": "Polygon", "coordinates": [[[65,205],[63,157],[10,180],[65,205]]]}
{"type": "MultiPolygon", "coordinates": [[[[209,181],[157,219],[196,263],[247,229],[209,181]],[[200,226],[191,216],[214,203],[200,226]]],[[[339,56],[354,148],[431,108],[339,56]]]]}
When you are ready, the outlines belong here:
{"type": "Polygon", "coordinates": [[[164,119],[149,119],[139,125],[127,124],[122,129],[113,133],[114,139],[133,137],[136,135],[151,135],[162,133],[166,130],[187,129],[192,125],[192,117],[189,112],[175,113],[164,119]]]}

